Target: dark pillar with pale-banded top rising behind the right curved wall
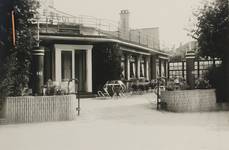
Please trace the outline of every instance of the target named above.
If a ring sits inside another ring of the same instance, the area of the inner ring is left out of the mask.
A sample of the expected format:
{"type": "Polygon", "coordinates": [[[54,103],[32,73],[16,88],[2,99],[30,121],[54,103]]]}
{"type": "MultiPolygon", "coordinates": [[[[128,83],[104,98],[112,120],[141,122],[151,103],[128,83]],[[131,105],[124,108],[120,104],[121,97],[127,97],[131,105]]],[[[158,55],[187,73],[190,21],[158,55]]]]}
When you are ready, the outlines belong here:
{"type": "Polygon", "coordinates": [[[194,78],[194,63],[195,63],[195,53],[193,51],[188,51],[186,53],[186,79],[187,83],[191,89],[195,88],[195,78],[194,78]]]}

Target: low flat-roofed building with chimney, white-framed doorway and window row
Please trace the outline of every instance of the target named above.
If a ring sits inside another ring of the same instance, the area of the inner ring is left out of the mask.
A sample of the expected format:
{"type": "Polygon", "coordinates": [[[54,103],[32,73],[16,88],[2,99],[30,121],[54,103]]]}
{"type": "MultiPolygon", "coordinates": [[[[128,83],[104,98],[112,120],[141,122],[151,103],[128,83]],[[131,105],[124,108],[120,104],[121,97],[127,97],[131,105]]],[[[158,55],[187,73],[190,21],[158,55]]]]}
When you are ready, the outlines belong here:
{"type": "MultiPolygon", "coordinates": [[[[159,40],[149,42],[152,47],[141,37],[138,43],[128,40],[137,31],[129,29],[128,11],[120,13],[121,29],[96,18],[52,14],[41,16],[37,24],[40,47],[33,51],[34,93],[40,93],[49,79],[66,86],[77,78],[81,92],[95,93],[106,80],[167,77],[168,54],[159,50],[159,40]],[[121,69],[120,74],[114,67],[121,69]]],[[[154,33],[153,28],[139,31],[154,33]]]]}

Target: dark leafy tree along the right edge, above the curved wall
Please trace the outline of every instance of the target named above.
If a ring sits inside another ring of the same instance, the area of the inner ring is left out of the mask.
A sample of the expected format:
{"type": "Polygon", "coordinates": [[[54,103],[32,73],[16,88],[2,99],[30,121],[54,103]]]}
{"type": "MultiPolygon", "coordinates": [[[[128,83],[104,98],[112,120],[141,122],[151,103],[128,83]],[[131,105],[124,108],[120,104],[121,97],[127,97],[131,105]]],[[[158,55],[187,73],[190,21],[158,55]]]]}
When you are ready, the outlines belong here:
{"type": "MultiPolygon", "coordinates": [[[[207,3],[196,14],[197,24],[192,35],[198,41],[199,55],[222,60],[221,86],[229,89],[229,6],[228,0],[207,3]]],[[[219,80],[219,79],[218,79],[219,80]]],[[[229,92],[224,90],[224,101],[229,101],[229,92]]]]}

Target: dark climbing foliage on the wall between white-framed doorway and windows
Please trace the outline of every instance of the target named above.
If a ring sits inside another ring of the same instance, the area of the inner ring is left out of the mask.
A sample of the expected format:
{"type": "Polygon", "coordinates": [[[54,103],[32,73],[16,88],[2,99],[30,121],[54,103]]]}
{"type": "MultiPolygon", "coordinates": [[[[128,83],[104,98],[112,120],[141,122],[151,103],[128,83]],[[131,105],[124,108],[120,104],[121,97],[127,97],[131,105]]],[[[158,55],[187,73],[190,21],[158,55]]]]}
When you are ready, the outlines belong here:
{"type": "Polygon", "coordinates": [[[118,44],[100,43],[93,48],[93,91],[102,89],[106,81],[120,80],[121,55],[118,44]]]}

